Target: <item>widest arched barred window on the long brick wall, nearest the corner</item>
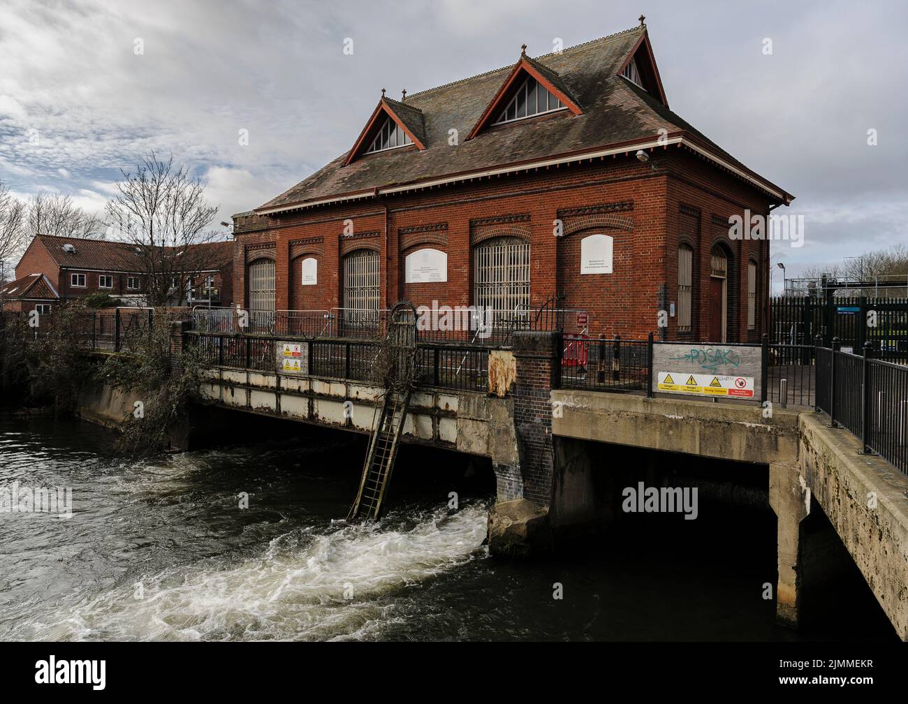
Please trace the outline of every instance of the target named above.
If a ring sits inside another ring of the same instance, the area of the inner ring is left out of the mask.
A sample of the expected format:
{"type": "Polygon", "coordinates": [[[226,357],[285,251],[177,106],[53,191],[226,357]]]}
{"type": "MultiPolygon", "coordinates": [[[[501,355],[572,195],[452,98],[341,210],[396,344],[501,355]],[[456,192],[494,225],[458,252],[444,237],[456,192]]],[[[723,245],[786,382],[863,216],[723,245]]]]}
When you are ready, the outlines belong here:
{"type": "Polygon", "coordinates": [[[473,250],[473,304],[496,312],[529,305],[529,243],[496,237],[473,250]]]}

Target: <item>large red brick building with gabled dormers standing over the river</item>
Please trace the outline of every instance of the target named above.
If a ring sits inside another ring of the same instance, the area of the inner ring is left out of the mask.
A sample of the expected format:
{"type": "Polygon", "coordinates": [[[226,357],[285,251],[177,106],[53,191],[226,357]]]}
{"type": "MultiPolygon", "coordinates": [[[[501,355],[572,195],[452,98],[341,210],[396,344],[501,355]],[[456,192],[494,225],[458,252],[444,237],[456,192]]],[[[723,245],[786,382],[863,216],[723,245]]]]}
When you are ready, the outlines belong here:
{"type": "Polygon", "coordinates": [[[643,337],[666,311],[669,339],[758,339],[769,243],[733,240],[729,217],[768,220],[793,196],[668,108],[642,20],[525,50],[400,101],[382,90],[348,152],[234,215],[236,302],[514,310],[562,294],[594,337],[643,337]]]}

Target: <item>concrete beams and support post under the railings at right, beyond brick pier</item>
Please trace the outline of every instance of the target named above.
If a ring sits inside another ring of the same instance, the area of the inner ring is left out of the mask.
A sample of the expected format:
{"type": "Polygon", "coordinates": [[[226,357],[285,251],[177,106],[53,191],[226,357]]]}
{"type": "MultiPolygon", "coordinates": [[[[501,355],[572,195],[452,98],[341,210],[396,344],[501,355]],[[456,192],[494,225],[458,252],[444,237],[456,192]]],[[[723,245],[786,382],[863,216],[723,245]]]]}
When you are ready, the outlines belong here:
{"type": "MultiPolygon", "coordinates": [[[[779,620],[797,625],[805,587],[824,581],[824,553],[804,528],[811,511],[822,510],[897,634],[908,640],[908,477],[860,454],[850,433],[827,428],[813,411],[776,409],[765,418],[756,406],[581,391],[552,391],[551,399],[560,409],[552,421],[556,445],[569,438],[767,465],[777,518],[779,620]]],[[[549,505],[553,531],[594,519],[589,486],[597,471],[606,471],[578,466],[576,453],[557,451],[555,459],[561,489],[549,505]]]]}

